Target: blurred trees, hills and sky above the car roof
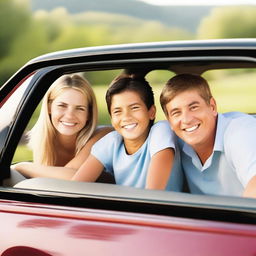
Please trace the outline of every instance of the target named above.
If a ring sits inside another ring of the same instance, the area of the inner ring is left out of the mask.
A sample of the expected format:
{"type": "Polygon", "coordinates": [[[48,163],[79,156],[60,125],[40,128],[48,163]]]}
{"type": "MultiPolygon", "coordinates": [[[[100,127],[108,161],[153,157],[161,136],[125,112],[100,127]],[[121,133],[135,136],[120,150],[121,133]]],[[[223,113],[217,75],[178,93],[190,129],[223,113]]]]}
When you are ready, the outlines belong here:
{"type": "MultiPolygon", "coordinates": [[[[203,1],[204,5],[198,5],[199,0],[181,5],[183,1],[173,1],[180,5],[153,5],[150,0],[0,0],[0,85],[29,59],[52,51],[256,37],[256,5],[248,4],[250,0],[239,5],[239,0],[229,5],[214,5],[218,0],[212,5],[211,0],[203,1]]],[[[94,84],[102,83],[92,79],[94,84]]]]}

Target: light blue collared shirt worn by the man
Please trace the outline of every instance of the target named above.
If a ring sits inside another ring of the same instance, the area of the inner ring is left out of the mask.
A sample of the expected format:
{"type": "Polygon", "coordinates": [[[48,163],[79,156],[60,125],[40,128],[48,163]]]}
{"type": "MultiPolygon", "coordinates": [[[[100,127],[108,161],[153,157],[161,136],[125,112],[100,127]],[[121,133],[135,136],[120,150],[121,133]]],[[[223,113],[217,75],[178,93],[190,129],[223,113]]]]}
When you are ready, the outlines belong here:
{"type": "Polygon", "coordinates": [[[191,193],[241,196],[256,175],[256,119],[250,115],[218,114],[213,153],[203,166],[188,144],[179,144],[191,193]]]}

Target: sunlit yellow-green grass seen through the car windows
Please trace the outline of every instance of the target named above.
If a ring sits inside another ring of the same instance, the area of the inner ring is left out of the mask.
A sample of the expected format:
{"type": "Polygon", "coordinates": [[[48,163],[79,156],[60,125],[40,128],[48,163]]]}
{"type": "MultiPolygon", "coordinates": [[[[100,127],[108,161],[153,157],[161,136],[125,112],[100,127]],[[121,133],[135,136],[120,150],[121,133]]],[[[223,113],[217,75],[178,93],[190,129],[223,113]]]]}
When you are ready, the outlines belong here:
{"type": "MultiPolygon", "coordinates": [[[[242,111],[246,113],[256,113],[256,74],[231,74],[229,76],[220,76],[216,80],[209,80],[213,96],[218,104],[219,112],[227,111],[242,111]]],[[[99,123],[109,124],[110,119],[105,103],[106,87],[94,87],[95,95],[97,96],[99,108],[99,123]]],[[[157,120],[165,119],[162,109],[159,104],[159,96],[162,90],[162,85],[153,87],[157,107],[157,120]]],[[[39,110],[39,108],[38,108],[39,110]]],[[[38,113],[37,110],[37,113],[38,113]]],[[[33,122],[36,120],[36,115],[33,117],[33,122]]],[[[30,127],[32,123],[30,123],[30,127]]],[[[21,145],[17,148],[13,162],[31,160],[31,151],[21,145]]]]}

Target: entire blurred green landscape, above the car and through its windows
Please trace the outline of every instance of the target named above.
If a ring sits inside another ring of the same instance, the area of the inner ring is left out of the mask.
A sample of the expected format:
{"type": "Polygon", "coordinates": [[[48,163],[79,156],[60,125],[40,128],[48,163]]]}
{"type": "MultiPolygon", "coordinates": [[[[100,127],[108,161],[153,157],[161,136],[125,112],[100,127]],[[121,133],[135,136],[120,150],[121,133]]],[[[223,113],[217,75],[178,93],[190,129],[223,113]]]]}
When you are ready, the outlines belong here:
{"type": "MultiPolygon", "coordinates": [[[[255,38],[255,4],[253,0],[0,0],[0,86],[31,58],[52,51],[137,42],[255,38]]],[[[101,75],[91,72],[85,76],[96,85],[99,123],[109,124],[104,86],[114,74],[102,71],[101,75]]],[[[165,118],[158,98],[169,76],[170,72],[156,71],[147,77],[154,84],[157,120],[165,118]]],[[[204,76],[219,112],[256,112],[254,70],[211,71],[204,76]]],[[[26,132],[39,110],[40,105],[26,132]]],[[[14,162],[31,158],[30,150],[21,143],[14,162]]]]}

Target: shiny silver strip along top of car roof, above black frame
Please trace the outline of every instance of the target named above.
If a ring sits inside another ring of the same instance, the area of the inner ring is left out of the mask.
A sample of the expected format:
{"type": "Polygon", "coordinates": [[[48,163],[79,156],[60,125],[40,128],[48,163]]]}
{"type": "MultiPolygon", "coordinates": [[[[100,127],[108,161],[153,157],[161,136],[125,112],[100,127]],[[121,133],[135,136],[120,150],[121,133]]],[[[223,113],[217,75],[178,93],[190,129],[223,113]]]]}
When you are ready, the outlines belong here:
{"type": "Polygon", "coordinates": [[[256,39],[214,39],[214,40],[189,40],[189,41],[163,41],[148,43],[131,43],[119,45],[104,45],[94,47],[76,48],[56,51],[36,57],[28,64],[54,61],[63,58],[76,58],[81,56],[143,53],[159,51],[202,51],[202,50],[255,50],[256,39]]]}

